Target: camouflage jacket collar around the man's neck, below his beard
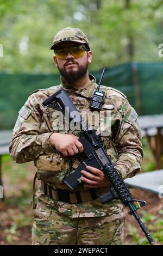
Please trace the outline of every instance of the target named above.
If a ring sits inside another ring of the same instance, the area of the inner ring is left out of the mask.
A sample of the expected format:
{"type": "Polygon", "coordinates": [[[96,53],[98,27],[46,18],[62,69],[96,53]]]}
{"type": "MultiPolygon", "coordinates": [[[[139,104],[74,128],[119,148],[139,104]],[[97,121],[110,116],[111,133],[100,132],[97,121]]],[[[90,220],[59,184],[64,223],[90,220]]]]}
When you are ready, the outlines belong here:
{"type": "Polygon", "coordinates": [[[68,84],[66,82],[66,80],[63,77],[61,77],[61,87],[64,90],[66,90],[66,92],[69,95],[78,94],[78,95],[82,95],[83,97],[91,98],[94,90],[97,88],[97,84],[96,84],[96,78],[94,76],[89,74],[89,78],[90,78],[91,82],[87,85],[87,87],[85,87],[84,89],[78,90],[77,88],[71,86],[71,84],[68,84]]]}

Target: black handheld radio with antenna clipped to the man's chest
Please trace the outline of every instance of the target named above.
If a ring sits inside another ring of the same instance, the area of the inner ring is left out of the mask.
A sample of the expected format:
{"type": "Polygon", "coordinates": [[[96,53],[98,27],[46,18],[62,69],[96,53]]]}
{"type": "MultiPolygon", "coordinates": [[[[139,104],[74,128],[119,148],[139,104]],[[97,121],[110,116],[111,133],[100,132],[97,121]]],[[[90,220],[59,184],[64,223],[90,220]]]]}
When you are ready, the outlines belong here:
{"type": "Polygon", "coordinates": [[[95,92],[93,92],[92,97],[91,97],[90,109],[92,109],[92,110],[100,111],[103,101],[104,101],[105,93],[102,91],[99,91],[99,87],[100,87],[101,81],[103,79],[104,71],[105,71],[105,68],[103,69],[97,89],[95,90],[95,92]]]}

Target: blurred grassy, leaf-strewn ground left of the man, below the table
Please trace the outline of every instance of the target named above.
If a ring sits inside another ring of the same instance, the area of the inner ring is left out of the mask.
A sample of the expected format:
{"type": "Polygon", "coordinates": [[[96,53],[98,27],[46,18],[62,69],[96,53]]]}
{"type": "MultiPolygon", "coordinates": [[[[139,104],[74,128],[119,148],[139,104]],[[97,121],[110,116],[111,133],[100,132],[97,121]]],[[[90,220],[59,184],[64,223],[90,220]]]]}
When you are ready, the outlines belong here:
{"type": "Polygon", "coordinates": [[[11,156],[2,157],[2,179],[5,200],[0,204],[1,223],[0,245],[30,244],[33,224],[32,200],[33,163],[15,163],[11,156]]]}

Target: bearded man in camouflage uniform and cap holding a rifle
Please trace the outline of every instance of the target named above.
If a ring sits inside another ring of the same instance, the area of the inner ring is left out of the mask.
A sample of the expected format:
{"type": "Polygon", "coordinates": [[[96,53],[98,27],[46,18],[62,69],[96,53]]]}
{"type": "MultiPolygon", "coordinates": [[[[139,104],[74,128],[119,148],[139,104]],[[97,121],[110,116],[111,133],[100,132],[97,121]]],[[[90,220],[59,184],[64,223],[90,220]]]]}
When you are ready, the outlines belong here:
{"type": "MultiPolygon", "coordinates": [[[[87,113],[92,93],[97,88],[89,74],[92,61],[89,41],[78,28],[59,31],[51,47],[61,84],[32,93],[19,112],[10,143],[10,154],[17,163],[34,161],[35,179],[41,180],[32,230],[33,245],[122,245],[126,214],[120,200],[102,204],[99,196],[109,191],[104,173],[90,166],[82,171],[82,184],[74,192],[63,179],[79,165],[83,145],[79,132],[64,130],[57,111],[42,106],[48,96],[64,88],[84,116],[89,127],[101,123],[91,121],[87,113]],[[84,114],[83,114],[84,113],[84,114]]],[[[105,100],[101,109],[106,120],[102,136],[106,153],[123,179],[139,172],[142,162],[141,131],[137,114],[126,96],[118,90],[102,86],[105,100]],[[107,131],[110,131],[109,133],[107,131]]],[[[99,132],[102,130],[97,127],[99,132]]],[[[35,182],[34,179],[34,182],[35,182]]],[[[33,208],[35,203],[33,202],[33,208]]]]}

